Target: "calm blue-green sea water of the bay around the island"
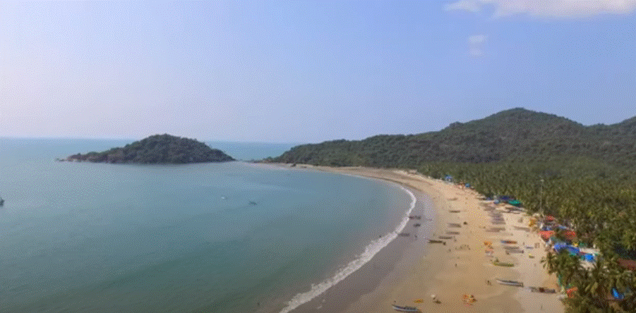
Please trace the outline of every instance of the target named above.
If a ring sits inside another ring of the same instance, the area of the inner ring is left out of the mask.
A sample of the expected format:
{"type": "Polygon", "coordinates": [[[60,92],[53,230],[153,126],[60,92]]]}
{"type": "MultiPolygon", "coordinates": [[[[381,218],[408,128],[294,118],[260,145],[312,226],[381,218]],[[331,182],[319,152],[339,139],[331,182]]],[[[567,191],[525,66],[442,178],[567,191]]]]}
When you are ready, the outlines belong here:
{"type": "Polygon", "coordinates": [[[0,138],[0,312],[280,312],[409,207],[316,171],[54,161],[128,142],[0,138]]]}

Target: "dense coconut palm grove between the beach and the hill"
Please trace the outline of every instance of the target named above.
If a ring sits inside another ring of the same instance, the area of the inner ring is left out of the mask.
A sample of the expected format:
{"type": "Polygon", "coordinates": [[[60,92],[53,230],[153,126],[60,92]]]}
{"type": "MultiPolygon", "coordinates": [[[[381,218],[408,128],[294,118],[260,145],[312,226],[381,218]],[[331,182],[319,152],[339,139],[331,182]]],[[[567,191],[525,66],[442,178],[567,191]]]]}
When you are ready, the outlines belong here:
{"type": "Polygon", "coordinates": [[[582,245],[601,256],[592,269],[568,252],[548,254],[548,271],[567,288],[572,312],[636,312],[636,275],[618,266],[618,258],[636,258],[636,173],[579,157],[548,162],[500,161],[485,164],[427,163],[419,169],[433,178],[450,175],[491,197],[513,195],[530,212],[560,217],[577,232],[582,245]],[[611,300],[616,288],[625,295],[611,300]]]}

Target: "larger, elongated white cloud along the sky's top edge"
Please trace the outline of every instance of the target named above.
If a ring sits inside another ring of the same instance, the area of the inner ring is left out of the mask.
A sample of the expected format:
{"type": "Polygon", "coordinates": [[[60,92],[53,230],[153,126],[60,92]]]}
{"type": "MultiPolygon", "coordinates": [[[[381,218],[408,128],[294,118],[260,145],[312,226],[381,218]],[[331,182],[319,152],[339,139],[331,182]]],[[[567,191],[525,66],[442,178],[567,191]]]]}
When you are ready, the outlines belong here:
{"type": "Polygon", "coordinates": [[[629,14],[636,0],[460,0],[446,4],[445,10],[471,12],[493,9],[493,16],[527,14],[553,18],[577,18],[599,14],[629,14]]]}

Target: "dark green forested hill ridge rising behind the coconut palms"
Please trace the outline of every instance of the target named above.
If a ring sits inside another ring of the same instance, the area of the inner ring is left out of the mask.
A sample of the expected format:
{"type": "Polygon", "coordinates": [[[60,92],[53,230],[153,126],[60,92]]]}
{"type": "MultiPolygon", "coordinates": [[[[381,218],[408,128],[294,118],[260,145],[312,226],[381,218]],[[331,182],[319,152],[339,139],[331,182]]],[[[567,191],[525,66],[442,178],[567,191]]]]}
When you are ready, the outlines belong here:
{"type": "Polygon", "coordinates": [[[425,162],[548,161],[589,158],[619,166],[636,161],[636,118],[584,126],[567,118],[510,109],[437,132],[377,135],[293,147],[273,161],[329,166],[418,167],[425,162]]]}

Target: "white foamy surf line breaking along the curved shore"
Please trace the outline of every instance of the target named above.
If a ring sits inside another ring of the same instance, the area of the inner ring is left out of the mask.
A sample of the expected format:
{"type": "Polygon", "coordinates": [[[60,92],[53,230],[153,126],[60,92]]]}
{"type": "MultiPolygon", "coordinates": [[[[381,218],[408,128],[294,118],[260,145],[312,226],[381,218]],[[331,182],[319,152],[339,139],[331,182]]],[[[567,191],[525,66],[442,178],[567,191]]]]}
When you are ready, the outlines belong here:
{"type": "Polygon", "coordinates": [[[318,295],[324,293],[332,286],[335,286],[335,284],[340,283],[340,281],[342,281],[344,278],[347,278],[347,276],[351,275],[354,271],[357,271],[364,264],[371,261],[373,256],[378,254],[378,252],[380,252],[383,247],[386,247],[391,241],[397,238],[397,234],[401,233],[407,226],[407,223],[409,223],[409,215],[415,207],[417,198],[415,197],[415,195],[413,195],[413,192],[407,190],[407,188],[404,188],[402,187],[402,185],[398,185],[397,183],[394,184],[402,188],[402,190],[404,190],[409,194],[409,196],[411,196],[411,204],[409,206],[409,210],[404,213],[404,218],[402,219],[400,225],[398,225],[394,231],[388,233],[388,235],[384,235],[382,236],[382,238],[378,238],[376,240],[371,240],[371,243],[369,243],[364,248],[364,252],[362,252],[362,254],[356,257],[356,259],[354,259],[352,262],[349,262],[347,266],[344,266],[342,267],[342,269],[338,270],[333,277],[328,278],[321,283],[318,283],[318,285],[312,284],[311,289],[305,293],[298,293],[294,295],[294,297],[292,297],[292,300],[289,300],[287,302],[287,307],[284,307],[284,309],[282,309],[280,313],[291,312],[293,309],[296,309],[296,307],[299,307],[304,303],[311,301],[313,298],[318,297],[318,295]]]}

